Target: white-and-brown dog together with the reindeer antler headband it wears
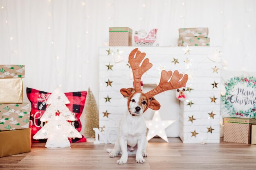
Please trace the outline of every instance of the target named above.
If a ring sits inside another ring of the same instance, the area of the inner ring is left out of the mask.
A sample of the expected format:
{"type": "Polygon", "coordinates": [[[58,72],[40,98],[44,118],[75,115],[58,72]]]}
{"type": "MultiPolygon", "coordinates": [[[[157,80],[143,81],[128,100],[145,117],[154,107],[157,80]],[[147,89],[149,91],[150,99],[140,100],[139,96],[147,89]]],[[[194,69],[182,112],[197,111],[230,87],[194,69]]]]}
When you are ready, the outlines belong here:
{"type": "Polygon", "coordinates": [[[153,66],[148,58],[144,60],[145,56],[146,53],[141,53],[138,49],[132,50],[129,55],[134,88],[121,88],[120,90],[121,94],[128,99],[128,112],[124,114],[119,123],[119,136],[114,148],[107,149],[110,152],[110,157],[116,157],[119,153],[122,154],[117,164],[126,163],[128,151],[135,151],[136,148],[137,163],[146,162],[143,157],[147,156],[146,148],[148,141],[146,140],[147,128],[143,113],[148,108],[159,110],[160,104],[154,99],[155,95],[164,91],[181,88],[188,80],[188,75],[180,74],[177,70],[174,72],[163,70],[157,87],[147,93],[141,92],[141,76],[153,66]],[[127,151],[128,147],[129,150],[127,151]]]}

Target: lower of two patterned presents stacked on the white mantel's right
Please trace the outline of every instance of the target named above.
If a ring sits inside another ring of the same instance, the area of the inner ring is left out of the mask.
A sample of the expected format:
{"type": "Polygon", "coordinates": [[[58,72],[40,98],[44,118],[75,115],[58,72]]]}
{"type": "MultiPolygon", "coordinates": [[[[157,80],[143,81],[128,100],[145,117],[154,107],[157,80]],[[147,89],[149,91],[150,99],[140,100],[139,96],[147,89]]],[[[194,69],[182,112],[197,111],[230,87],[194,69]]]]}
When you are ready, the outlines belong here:
{"type": "Polygon", "coordinates": [[[178,46],[210,46],[210,38],[207,37],[181,37],[178,46]]]}

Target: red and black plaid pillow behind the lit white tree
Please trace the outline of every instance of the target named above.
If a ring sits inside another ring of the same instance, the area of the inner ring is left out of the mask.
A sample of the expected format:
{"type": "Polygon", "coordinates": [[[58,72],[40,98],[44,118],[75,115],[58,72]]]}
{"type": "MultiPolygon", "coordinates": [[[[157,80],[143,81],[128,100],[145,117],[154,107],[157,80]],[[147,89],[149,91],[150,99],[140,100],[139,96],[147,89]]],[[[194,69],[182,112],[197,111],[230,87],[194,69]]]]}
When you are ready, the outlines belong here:
{"type": "MultiPolygon", "coordinates": [[[[80,121],[80,116],[83,112],[85,99],[86,99],[86,91],[81,92],[70,92],[65,93],[67,99],[70,101],[70,104],[66,104],[67,108],[74,114],[76,118],[75,121],[69,121],[76,130],[81,131],[82,124],[80,121]]],[[[46,100],[49,98],[51,93],[47,93],[44,91],[38,91],[33,88],[27,88],[27,98],[31,102],[31,113],[30,113],[30,124],[29,128],[31,128],[31,135],[34,136],[38,130],[40,130],[45,122],[40,121],[40,117],[45,113],[45,109],[47,108],[46,100]]],[[[35,140],[34,143],[37,142],[46,142],[47,139],[35,140]]],[[[76,142],[85,142],[86,139],[83,136],[80,138],[69,138],[70,143],[76,142]]]]}

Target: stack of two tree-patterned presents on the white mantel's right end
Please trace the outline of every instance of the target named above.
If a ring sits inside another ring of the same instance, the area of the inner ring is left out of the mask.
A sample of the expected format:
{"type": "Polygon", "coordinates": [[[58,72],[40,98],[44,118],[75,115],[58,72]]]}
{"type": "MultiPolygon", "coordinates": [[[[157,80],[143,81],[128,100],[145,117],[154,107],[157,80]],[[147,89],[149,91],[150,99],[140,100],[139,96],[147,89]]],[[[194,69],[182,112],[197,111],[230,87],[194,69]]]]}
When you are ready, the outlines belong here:
{"type": "Polygon", "coordinates": [[[178,46],[210,46],[208,28],[179,29],[178,46]]]}

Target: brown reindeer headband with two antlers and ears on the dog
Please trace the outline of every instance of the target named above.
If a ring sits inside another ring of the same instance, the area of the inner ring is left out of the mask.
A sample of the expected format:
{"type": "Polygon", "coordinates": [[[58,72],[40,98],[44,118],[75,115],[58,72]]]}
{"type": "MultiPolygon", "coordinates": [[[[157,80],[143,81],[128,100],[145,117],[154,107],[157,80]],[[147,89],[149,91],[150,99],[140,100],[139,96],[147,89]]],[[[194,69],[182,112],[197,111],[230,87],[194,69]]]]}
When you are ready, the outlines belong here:
{"type": "MultiPolygon", "coordinates": [[[[127,103],[128,110],[129,110],[130,98],[135,93],[142,93],[140,88],[141,76],[153,66],[149,62],[148,58],[143,60],[145,56],[146,56],[146,53],[141,53],[140,51],[138,51],[138,49],[132,50],[132,52],[129,55],[129,63],[132,68],[135,92],[132,93],[126,88],[122,88],[120,90],[123,96],[128,97],[128,103],[127,103]]],[[[177,70],[175,70],[174,72],[163,70],[161,73],[160,82],[157,85],[157,87],[147,93],[142,93],[146,95],[148,100],[147,102],[148,105],[147,105],[147,108],[144,110],[144,112],[148,109],[148,107],[150,107],[153,110],[159,110],[160,108],[159,103],[155,99],[153,99],[155,95],[162,93],[164,91],[181,88],[186,84],[187,81],[188,81],[187,74],[183,76],[183,74],[180,74],[177,70]],[[156,107],[156,104],[158,104],[159,107],[156,107]]]]}

